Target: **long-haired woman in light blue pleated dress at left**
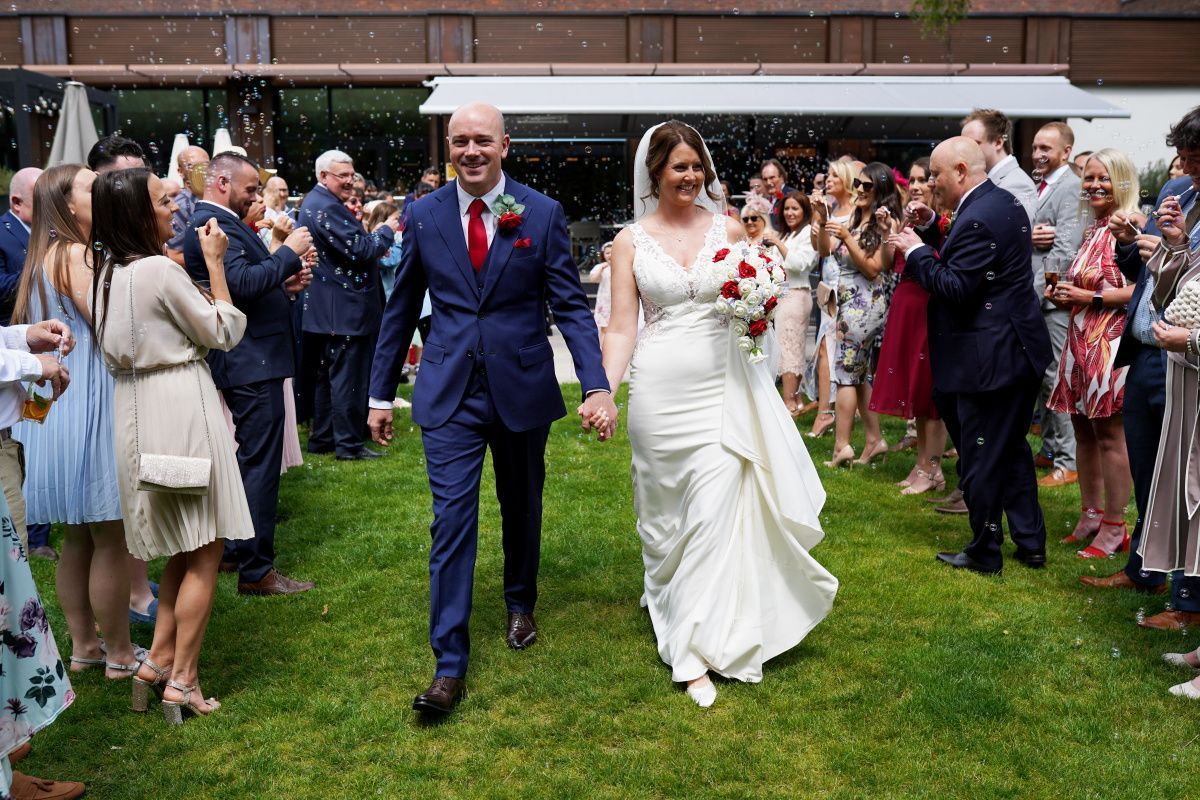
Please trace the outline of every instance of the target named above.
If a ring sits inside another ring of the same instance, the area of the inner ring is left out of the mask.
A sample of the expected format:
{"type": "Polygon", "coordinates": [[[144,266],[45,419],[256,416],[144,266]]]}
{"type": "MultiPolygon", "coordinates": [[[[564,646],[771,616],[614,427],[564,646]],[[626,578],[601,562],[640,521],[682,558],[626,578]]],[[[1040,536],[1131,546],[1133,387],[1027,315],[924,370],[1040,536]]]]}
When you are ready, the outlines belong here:
{"type": "Polygon", "coordinates": [[[89,330],[95,180],[82,164],[62,164],[35,187],[28,269],[13,315],[22,323],[59,320],[78,331],[83,347],[62,359],[76,390],[59,398],[41,425],[24,422],[14,435],[25,447],[28,518],[65,525],[55,585],[71,632],[71,669],[101,667],[120,679],[137,672],[138,661],[113,451],[114,381],[89,330]]]}

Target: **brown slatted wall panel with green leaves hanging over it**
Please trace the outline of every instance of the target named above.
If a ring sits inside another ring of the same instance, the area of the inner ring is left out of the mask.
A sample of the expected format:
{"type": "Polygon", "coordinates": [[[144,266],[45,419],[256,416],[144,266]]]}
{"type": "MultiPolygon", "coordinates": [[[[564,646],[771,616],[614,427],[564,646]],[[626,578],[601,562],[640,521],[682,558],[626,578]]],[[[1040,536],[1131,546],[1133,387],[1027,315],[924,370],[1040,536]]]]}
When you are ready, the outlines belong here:
{"type": "Polygon", "coordinates": [[[947,42],[922,37],[920,24],[884,17],[875,22],[874,61],[904,64],[1020,64],[1025,55],[1025,23],[1014,18],[965,19],[950,29],[947,42]]]}

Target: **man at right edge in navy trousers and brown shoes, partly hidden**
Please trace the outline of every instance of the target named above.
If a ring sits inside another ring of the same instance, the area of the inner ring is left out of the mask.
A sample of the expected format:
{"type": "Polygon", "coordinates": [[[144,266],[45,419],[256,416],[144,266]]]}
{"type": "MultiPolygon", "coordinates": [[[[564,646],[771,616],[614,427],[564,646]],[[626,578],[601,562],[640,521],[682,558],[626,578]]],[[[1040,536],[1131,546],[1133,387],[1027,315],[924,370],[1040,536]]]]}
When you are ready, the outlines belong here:
{"type": "MultiPolygon", "coordinates": [[[[1169,181],[1156,204],[1162,209],[1166,198],[1200,188],[1200,107],[1183,116],[1170,130],[1168,146],[1176,148],[1180,164],[1187,175],[1182,184],[1169,181]],[[1190,174],[1189,174],[1190,173],[1190,174]]],[[[1195,197],[1195,192],[1190,193],[1195,197]]],[[[1184,200],[1184,213],[1194,205],[1184,200]]],[[[1171,218],[1170,216],[1166,218],[1171,218]]],[[[1146,533],[1151,487],[1158,461],[1158,443],[1166,419],[1166,365],[1168,354],[1160,349],[1152,324],[1157,318],[1153,306],[1154,278],[1146,269],[1141,248],[1152,253],[1160,245],[1159,230],[1151,217],[1145,230],[1136,234],[1128,224],[1128,217],[1117,211],[1109,218],[1109,230],[1117,240],[1117,263],[1127,278],[1136,276],[1138,285],[1129,300],[1129,313],[1121,337],[1116,366],[1128,366],[1126,374],[1124,427],[1126,447],[1129,451],[1129,469],[1133,473],[1134,499],[1138,504],[1138,523],[1132,534],[1129,560],[1124,569],[1104,577],[1081,576],[1080,583],[1100,589],[1134,589],[1147,594],[1168,590],[1166,576],[1142,569],[1141,540],[1146,533]],[[1152,231],[1152,234],[1150,233],[1152,231]]],[[[1200,225],[1189,233],[1195,234],[1200,225]]],[[[1184,373],[1188,374],[1188,373],[1184,373]]],[[[1141,627],[1154,630],[1180,630],[1200,624],[1200,578],[1188,577],[1182,570],[1171,572],[1169,607],[1138,620],[1141,627]]]]}

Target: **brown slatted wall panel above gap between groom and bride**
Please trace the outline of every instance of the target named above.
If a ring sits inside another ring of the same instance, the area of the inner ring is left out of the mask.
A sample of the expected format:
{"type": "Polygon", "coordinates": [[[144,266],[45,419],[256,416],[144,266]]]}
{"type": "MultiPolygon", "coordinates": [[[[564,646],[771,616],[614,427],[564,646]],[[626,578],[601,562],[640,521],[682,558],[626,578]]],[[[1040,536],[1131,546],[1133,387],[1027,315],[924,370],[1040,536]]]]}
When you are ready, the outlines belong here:
{"type": "Polygon", "coordinates": [[[475,60],[626,60],[624,17],[476,17],[475,60]]]}

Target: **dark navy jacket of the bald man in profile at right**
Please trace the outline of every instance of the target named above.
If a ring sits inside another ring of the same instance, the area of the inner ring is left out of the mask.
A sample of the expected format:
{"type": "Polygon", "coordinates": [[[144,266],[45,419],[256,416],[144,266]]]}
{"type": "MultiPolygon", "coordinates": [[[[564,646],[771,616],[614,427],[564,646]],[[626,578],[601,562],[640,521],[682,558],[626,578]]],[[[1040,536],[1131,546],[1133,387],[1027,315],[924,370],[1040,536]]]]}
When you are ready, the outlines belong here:
{"type": "Polygon", "coordinates": [[[905,265],[930,294],[935,389],[983,392],[1043,374],[1050,335],[1033,293],[1025,207],[985,180],[962,200],[940,253],[918,248],[905,265]]]}

